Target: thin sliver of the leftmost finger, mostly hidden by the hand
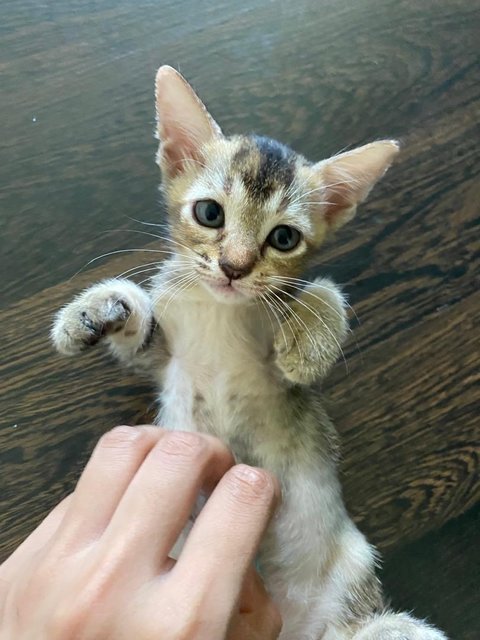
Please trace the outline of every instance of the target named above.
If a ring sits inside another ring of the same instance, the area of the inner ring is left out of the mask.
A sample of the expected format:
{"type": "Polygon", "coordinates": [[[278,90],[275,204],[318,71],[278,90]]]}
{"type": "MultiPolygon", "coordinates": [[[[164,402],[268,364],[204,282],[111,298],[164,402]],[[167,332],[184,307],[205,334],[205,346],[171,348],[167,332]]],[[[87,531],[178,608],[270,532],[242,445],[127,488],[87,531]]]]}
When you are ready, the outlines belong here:
{"type": "Polygon", "coordinates": [[[3,581],[9,582],[11,577],[17,573],[20,565],[27,562],[51,541],[65,516],[71,499],[72,496],[69,495],[59,502],[28,538],[2,563],[0,577],[3,581]]]}

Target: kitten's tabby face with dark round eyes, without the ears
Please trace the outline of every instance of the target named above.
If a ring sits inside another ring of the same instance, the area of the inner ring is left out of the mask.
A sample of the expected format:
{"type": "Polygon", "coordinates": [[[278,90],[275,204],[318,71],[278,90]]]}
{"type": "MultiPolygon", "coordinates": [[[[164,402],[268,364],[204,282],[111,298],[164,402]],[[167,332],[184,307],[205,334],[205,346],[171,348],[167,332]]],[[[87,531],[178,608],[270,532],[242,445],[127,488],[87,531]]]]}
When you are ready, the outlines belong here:
{"type": "Polygon", "coordinates": [[[198,256],[200,282],[236,302],[298,277],[326,233],[306,160],[257,136],[214,140],[202,156],[165,188],[172,237],[198,256]]]}

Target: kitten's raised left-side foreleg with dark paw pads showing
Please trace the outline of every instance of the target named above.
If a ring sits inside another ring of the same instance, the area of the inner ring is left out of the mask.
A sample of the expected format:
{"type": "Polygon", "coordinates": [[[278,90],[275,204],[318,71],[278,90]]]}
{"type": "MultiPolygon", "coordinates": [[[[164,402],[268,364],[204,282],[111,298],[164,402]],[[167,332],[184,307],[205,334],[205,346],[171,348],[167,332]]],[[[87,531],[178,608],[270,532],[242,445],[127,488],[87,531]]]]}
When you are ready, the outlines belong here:
{"type": "Polygon", "coordinates": [[[110,279],[89,287],[60,309],[51,337],[65,355],[106,342],[120,361],[131,364],[153,330],[148,293],[130,280],[110,279]]]}

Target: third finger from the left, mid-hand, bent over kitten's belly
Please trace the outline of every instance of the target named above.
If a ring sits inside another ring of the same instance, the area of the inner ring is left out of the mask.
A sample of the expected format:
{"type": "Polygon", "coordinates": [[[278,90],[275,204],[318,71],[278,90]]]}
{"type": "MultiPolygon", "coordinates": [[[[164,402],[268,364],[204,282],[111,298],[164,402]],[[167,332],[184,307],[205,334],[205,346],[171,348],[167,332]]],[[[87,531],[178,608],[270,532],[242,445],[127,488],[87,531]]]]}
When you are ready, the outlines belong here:
{"type": "Polygon", "coordinates": [[[200,491],[212,490],[233,464],[216,438],[165,433],[127,488],[105,532],[106,548],[117,553],[120,546],[123,561],[130,554],[137,567],[143,561],[157,575],[200,491]]]}

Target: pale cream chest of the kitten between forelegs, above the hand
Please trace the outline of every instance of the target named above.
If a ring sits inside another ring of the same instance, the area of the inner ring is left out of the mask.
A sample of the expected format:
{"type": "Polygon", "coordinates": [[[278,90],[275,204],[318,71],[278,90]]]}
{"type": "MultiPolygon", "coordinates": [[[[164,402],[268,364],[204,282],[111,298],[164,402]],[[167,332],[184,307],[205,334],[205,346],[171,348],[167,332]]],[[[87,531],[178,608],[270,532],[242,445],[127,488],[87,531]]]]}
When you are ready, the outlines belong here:
{"type": "Polygon", "coordinates": [[[165,426],[230,437],[261,413],[275,380],[272,329],[259,309],[180,301],[161,325],[171,354],[163,375],[165,426]]]}

